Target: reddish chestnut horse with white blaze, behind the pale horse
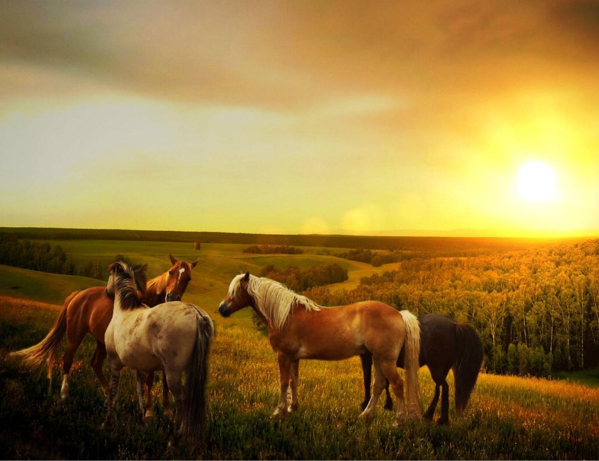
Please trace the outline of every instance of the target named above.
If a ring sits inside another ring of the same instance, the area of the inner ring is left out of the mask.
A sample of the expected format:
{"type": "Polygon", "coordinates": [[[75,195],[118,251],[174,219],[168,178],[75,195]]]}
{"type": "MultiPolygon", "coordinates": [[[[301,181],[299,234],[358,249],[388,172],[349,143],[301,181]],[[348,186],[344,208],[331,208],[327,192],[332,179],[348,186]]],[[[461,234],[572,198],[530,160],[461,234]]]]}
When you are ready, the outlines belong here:
{"type": "MultiPolygon", "coordinates": [[[[198,263],[198,259],[192,263],[177,261],[172,254],[168,255],[173,266],[164,274],[149,280],[144,286],[139,286],[143,292],[141,301],[144,304],[153,307],[164,301],[179,301],[187,284],[191,280],[191,270],[198,263]],[[144,289],[144,290],[142,290],[144,289]]],[[[69,372],[73,357],[77,348],[83,341],[87,333],[92,333],[96,338],[96,351],[92,356],[92,368],[102,383],[104,393],[108,393],[108,380],[102,372],[102,364],[106,357],[106,348],[104,347],[104,335],[112,319],[114,299],[107,295],[105,287],[92,287],[81,292],[72,292],[66,298],[62,311],[58,316],[54,326],[50,329],[46,338],[38,344],[14,352],[13,355],[22,357],[26,362],[41,365],[46,362],[48,365],[48,377],[52,377],[52,366],[55,361],[56,350],[58,349],[62,336],[66,333],[66,351],[62,357],[62,387],[60,395],[63,399],[69,395],[69,372]]],[[[52,380],[50,380],[52,383],[52,380]]],[[[152,417],[152,386],[154,375],[150,374],[147,379],[147,416],[152,417]]],[[[163,377],[163,401],[164,413],[172,415],[168,402],[167,380],[163,377]]]]}

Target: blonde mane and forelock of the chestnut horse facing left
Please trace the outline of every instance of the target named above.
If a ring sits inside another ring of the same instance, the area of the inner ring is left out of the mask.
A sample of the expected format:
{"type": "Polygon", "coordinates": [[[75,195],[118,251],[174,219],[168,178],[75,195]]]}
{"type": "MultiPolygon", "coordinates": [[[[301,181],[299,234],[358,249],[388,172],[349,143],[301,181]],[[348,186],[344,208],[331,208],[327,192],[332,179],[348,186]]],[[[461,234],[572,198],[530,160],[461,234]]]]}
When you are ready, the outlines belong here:
{"type": "MultiPolygon", "coordinates": [[[[234,297],[235,292],[240,287],[243,274],[237,275],[229,285],[229,296],[234,297]]],[[[266,277],[256,277],[250,275],[247,283],[247,294],[255,302],[256,309],[266,317],[272,326],[280,330],[285,326],[287,319],[291,315],[292,309],[297,305],[304,306],[307,311],[319,311],[324,306],[316,304],[305,296],[298,295],[293,290],[288,289],[282,283],[271,280],[266,277]]]]}

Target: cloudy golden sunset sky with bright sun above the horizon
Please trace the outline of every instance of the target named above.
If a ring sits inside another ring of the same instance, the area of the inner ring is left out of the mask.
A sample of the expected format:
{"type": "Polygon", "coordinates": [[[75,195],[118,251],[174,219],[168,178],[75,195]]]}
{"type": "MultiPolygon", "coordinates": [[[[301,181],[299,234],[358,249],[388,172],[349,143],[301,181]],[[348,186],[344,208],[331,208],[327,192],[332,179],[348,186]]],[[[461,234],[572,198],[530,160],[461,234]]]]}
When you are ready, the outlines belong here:
{"type": "Polygon", "coordinates": [[[1,8],[0,226],[599,234],[596,2],[1,8]]]}

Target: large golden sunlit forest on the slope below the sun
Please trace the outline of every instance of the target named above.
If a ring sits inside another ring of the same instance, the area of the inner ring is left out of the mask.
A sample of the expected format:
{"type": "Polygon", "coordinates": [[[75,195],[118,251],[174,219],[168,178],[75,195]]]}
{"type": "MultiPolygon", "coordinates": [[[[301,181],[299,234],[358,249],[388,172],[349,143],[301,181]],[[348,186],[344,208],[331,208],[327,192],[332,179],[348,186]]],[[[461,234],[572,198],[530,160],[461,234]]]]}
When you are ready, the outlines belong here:
{"type": "Polygon", "coordinates": [[[314,287],[325,305],[377,299],[480,332],[489,371],[547,375],[599,365],[599,240],[464,258],[410,259],[353,290],[314,287]]]}

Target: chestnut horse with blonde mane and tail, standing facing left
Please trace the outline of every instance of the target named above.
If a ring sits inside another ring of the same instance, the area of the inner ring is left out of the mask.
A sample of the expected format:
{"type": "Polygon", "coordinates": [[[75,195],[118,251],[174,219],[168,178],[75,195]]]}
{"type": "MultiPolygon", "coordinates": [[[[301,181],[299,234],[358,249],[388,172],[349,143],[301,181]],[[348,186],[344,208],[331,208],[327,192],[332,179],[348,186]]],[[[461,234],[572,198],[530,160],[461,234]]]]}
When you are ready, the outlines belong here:
{"type": "Polygon", "coordinates": [[[420,330],[418,319],[408,311],[400,313],[377,301],[323,307],[277,281],[255,277],[249,272],[233,278],[226,298],[220,303],[219,313],[229,317],[247,306],[266,324],[268,339],[277,353],[281,394],[273,415],[285,416],[297,410],[300,359],[343,360],[368,352],[374,363],[374,392],[360,417],[373,415],[386,378],[398,401],[394,425],[400,426],[406,421],[406,409],[404,385],[395,362],[400,351],[405,350],[408,412],[412,418],[420,418],[420,330]]]}

